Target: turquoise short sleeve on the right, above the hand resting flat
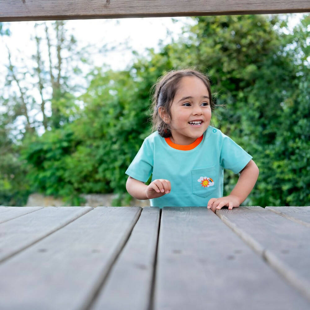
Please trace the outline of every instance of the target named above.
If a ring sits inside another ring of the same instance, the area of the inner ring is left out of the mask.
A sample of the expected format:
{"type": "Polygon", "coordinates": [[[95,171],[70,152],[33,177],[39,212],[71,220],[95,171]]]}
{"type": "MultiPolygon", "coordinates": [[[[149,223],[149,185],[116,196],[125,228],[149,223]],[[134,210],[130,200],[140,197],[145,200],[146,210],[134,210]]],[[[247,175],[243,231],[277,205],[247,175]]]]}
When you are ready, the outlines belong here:
{"type": "Polygon", "coordinates": [[[234,173],[239,173],[252,158],[241,146],[224,135],[220,156],[220,165],[222,167],[232,170],[234,173]]]}

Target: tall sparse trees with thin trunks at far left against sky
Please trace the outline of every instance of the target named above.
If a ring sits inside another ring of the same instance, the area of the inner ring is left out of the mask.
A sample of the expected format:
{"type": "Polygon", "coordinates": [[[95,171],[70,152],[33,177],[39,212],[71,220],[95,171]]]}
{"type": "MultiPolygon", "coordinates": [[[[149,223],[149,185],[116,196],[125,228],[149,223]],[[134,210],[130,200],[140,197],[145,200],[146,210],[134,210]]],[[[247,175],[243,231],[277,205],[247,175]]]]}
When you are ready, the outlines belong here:
{"type": "MultiPolygon", "coordinates": [[[[79,109],[75,92],[81,87],[71,79],[79,76],[80,66],[87,63],[86,48],[78,50],[64,21],[36,23],[35,30],[32,61],[19,56],[15,64],[7,47],[7,77],[0,95],[0,204],[11,206],[24,205],[32,190],[26,178],[31,166],[20,158],[21,149],[42,131],[74,119],[79,109]],[[44,48],[47,58],[42,56],[44,48]]],[[[9,35],[9,26],[0,24],[0,34],[9,35]]]]}

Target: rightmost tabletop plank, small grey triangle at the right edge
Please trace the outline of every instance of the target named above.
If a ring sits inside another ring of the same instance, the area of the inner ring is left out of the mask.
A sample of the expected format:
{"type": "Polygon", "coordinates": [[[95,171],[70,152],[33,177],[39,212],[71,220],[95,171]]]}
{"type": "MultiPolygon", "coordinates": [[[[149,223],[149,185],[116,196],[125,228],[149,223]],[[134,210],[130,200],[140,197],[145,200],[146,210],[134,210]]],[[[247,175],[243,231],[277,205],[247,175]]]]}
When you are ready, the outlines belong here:
{"type": "Polygon", "coordinates": [[[287,219],[290,219],[296,223],[310,227],[310,206],[304,207],[265,207],[265,210],[269,210],[287,219]]]}

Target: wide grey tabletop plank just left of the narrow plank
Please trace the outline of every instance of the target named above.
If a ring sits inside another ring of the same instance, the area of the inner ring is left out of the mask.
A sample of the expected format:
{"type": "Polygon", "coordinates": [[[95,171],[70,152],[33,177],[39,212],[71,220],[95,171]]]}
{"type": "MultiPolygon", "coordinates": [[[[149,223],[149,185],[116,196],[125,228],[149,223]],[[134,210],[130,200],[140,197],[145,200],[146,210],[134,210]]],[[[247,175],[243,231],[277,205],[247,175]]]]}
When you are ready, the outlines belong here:
{"type": "Polygon", "coordinates": [[[85,309],[141,213],[97,207],[0,264],[0,309],[85,309]]]}

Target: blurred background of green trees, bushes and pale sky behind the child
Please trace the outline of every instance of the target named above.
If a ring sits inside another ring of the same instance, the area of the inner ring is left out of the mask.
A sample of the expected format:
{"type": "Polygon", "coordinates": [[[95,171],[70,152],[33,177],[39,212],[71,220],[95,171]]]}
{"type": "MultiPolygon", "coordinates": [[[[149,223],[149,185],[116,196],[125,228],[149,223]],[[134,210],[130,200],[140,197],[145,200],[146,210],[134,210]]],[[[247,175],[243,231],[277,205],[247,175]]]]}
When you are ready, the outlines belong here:
{"type": "MultiPolygon", "coordinates": [[[[224,104],[211,125],[259,167],[242,205],[309,206],[309,34],[309,14],[0,23],[0,205],[136,205],[150,88],[195,67],[224,104]]],[[[224,195],[237,180],[224,171],[224,195]]]]}

